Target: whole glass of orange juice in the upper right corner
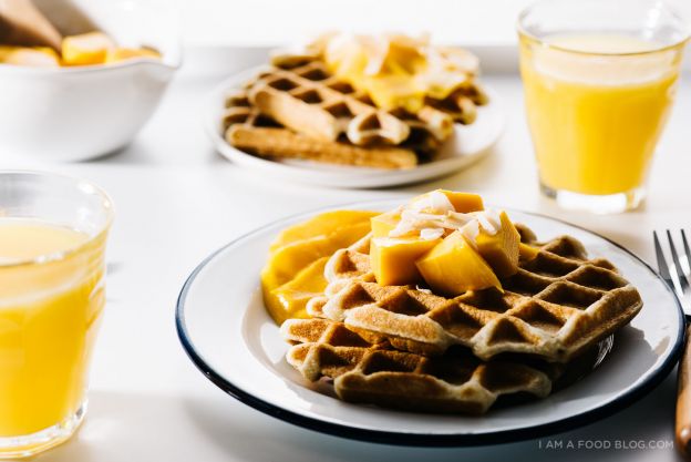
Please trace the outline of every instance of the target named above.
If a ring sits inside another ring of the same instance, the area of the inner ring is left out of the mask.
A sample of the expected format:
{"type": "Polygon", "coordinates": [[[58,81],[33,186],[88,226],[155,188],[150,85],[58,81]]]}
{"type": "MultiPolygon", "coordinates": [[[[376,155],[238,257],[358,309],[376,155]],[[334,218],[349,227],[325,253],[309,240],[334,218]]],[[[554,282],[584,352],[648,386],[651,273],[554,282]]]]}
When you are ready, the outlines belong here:
{"type": "Polygon", "coordinates": [[[659,0],[542,0],[518,35],[543,192],[569,208],[636,208],[674,100],[684,22],[659,0]]]}

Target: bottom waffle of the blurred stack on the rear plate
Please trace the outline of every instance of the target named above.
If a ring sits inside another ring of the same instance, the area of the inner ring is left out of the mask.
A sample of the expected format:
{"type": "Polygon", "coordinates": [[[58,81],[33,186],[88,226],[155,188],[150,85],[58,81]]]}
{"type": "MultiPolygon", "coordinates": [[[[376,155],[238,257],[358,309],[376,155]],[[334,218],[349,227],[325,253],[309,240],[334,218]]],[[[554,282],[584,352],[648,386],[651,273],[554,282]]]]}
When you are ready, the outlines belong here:
{"type": "Polygon", "coordinates": [[[252,106],[247,90],[239,90],[226,99],[223,127],[230,145],[261,157],[301,158],[374,168],[411,168],[417,164],[417,155],[412,148],[365,148],[292,132],[252,106]]]}

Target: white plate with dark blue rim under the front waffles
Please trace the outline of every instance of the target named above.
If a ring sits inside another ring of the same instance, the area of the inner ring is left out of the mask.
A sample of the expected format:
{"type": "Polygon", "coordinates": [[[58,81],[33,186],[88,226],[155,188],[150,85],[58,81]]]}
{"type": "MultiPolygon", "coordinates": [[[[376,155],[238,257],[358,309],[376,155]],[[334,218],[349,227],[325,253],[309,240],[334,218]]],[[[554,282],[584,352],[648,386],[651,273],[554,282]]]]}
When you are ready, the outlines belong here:
{"type": "MultiPolygon", "coordinates": [[[[396,202],[351,205],[391,209],[396,202]]],[[[352,404],[307,383],[285,360],[288,345],[267,315],[259,271],[269,243],[308,215],[257,229],[223,247],[189,276],[177,305],[182,343],[223,390],[262,412],[324,433],[416,445],[471,445],[537,438],[606,417],[650,391],[674,367],[683,337],[680,305],[658,275],[625,248],[553,218],[510,212],[537,236],[569,234],[591,256],[612,261],[640,291],[644,306],[615,338],[591,373],[550,397],[493,409],[479,418],[433,415],[352,404]]]]}

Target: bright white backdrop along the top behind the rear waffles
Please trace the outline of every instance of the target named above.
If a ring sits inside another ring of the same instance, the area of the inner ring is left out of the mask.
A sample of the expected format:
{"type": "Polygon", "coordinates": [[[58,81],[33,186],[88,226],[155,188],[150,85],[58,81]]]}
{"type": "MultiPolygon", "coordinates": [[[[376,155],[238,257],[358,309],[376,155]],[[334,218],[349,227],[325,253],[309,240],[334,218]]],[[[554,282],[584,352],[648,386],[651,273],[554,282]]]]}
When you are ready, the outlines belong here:
{"type": "MultiPolygon", "coordinates": [[[[578,1],[578,0],[573,0],[578,1]]],[[[431,32],[436,42],[512,44],[532,0],[183,0],[188,45],[276,45],[324,30],[431,32]]],[[[626,8],[627,0],[621,0],[626,8]]],[[[669,0],[691,20],[691,1],[669,0]]]]}

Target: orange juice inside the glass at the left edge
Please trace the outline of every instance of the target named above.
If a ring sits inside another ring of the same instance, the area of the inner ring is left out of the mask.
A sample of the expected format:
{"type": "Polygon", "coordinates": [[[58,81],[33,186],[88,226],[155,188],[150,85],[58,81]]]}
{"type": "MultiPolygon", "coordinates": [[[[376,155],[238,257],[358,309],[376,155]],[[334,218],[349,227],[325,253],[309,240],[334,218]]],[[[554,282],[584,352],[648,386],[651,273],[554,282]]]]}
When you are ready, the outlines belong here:
{"type": "Polygon", "coordinates": [[[0,437],[74,415],[104,305],[105,235],[0,218],[0,437]]]}

